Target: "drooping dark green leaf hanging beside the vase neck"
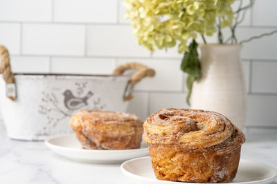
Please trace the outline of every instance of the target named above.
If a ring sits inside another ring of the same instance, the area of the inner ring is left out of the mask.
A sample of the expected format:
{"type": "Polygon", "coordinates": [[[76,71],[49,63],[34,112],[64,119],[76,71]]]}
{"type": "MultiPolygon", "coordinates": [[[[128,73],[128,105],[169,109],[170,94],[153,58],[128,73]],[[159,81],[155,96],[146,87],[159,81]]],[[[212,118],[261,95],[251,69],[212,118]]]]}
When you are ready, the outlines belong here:
{"type": "Polygon", "coordinates": [[[186,102],[188,105],[190,105],[190,95],[193,90],[193,83],[202,76],[197,46],[197,42],[193,39],[188,46],[189,51],[184,53],[184,57],[181,62],[181,70],[188,74],[186,79],[186,85],[188,87],[186,102]]]}

